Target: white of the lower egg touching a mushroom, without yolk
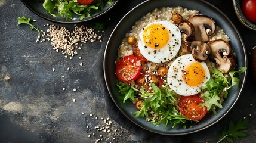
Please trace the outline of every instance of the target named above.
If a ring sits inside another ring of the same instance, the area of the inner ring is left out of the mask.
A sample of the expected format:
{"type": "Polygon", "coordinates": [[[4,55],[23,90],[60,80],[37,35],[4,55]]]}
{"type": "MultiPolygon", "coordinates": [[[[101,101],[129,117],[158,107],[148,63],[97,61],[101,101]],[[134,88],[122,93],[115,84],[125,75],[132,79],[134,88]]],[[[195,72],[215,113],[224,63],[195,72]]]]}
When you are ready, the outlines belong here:
{"type": "Polygon", "coordinates": [[[190,64],[198,62],[196,61],[192,54],[182,55],[178,57],[169,67],[167,82],[169,87],[179,95],[189,96],[195,95],[201,92],[201,87],[206,85],[206,82],[210,79],[211,74],[205,62],[198,62],[201,64],[203,69],[205,69],[205,79],[198,86],[190,86],[183,80],[183,71],[190,64]]]}

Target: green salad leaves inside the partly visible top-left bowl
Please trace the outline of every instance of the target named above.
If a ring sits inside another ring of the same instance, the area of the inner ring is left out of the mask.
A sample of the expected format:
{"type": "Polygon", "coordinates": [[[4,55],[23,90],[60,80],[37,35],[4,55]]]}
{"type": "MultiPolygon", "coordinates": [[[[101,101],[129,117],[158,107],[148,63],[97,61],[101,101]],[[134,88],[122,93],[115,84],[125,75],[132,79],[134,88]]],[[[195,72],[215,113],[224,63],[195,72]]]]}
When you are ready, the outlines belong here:
{"type": "Polygon", "coordinates": [[[106,4],[111,4],[112,0],[94,0],[90,5],[81,5],[77,0],[45,0],[43,7],[47,13],[53,17],[61,16],[66,19],[72,19],[73,14],[80,15],[80,20],[85,17],[91,17],[91,14],[97,10],[103,10],[106,4]]]}

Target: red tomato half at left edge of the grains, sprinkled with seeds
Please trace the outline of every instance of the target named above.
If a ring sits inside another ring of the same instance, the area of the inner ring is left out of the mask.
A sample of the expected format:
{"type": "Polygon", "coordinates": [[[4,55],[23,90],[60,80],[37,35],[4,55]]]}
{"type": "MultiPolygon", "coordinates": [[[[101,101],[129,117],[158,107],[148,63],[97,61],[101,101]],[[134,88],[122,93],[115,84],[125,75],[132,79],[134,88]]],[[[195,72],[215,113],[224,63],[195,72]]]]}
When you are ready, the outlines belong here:
{"type": "Polygon", "coordinates": [[[123,82],[137,79],[140,71],[140,60],[134,55],[125,56],[116,63],[116,77],[123,82]]]}

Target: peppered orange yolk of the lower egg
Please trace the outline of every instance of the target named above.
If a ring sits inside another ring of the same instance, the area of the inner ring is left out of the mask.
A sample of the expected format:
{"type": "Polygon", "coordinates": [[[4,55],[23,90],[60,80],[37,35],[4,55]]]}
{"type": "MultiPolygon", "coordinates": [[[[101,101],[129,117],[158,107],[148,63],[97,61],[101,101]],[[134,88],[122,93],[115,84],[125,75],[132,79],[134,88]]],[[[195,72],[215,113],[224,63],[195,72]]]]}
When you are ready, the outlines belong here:
{"type": "Polygon", "coordinates": [[[183,70],[183,80],[189,86],[198,86],[205,80],[205,69],[198,62],[192,63],[183,70]]]}

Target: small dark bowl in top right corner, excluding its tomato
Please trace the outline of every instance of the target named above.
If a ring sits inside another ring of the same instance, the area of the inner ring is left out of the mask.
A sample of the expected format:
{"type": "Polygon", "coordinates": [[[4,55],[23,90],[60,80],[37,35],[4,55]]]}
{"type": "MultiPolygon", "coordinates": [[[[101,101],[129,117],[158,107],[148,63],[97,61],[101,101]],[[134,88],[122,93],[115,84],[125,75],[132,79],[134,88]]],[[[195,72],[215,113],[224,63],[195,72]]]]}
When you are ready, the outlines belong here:
{"type": "Polygon", "coordinates": [[[235,9],[235,12],[236,12],[236,16],[238,17],[239,21],[245,26],[247,27],[248,29],[251,29],[251,30],[256,30],[256,24],[254,23],[251,23],[250,21],[248,21],[246,18],[245,18],[245,15],[243,15],[242,13],[242,10],[241,10],[241,2],[240,0],[233,0],[233,5],[234,5],[234,9],[235,9]]]}

